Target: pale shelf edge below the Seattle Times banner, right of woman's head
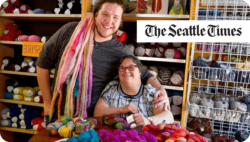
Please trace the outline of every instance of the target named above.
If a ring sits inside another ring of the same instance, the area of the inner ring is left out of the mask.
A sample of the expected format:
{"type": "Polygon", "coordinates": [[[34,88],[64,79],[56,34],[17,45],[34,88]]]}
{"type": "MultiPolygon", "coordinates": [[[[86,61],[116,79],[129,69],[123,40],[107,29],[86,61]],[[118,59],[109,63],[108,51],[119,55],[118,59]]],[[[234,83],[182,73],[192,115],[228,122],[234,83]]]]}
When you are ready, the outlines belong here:
{"type": "Polygon", "coordinates": [[[185,59],[168,59],[168,58],[157,58],[157,57],[139,57],[141,61],[154,61],[154,62],[170,62],[170,63],[186,63],[185,59]]]}

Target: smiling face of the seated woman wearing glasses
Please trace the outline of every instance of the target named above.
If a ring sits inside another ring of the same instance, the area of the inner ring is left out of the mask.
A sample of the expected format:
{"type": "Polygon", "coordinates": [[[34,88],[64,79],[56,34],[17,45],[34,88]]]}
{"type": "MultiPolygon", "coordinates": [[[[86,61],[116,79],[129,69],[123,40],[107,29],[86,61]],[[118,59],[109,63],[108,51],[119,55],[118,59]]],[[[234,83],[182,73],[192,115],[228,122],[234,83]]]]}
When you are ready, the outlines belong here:
{"type": "Polygon", "coordinates": [[[130,58],[126,58],[122,61],[118,71],[120,82],[131,83],[133,81],[138,81],[141,79],[141,72],[139,68],[134,67],[134,65],[136,64],[130,58]],[[122,71],[121,68],[124,67],[126,69],[125,71],[122,71]],[[130,69],[134,68],[134,70],[129,70],[128,68],[130,69]]]}

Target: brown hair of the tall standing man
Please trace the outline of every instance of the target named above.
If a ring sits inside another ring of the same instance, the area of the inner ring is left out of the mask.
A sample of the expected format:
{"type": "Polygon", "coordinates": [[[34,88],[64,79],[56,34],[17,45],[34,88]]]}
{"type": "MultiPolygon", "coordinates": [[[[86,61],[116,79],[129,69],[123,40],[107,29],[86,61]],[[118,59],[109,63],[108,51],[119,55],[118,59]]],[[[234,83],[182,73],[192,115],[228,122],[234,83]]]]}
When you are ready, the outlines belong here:
{"type": "MultiPolygon", "coordinates": [[[[123,0],[99,0],[94,6],[94,10],[93,10],[94,16],[97,16],[99,10],[102,8],[102,5],[105,3],[112,3],[112,4],[117,4],[117,5],[121,6],[122,7],[122,17],[123,17],[123,13],[125,10],[123,0]]],[[[123,25],[122,17],[121,17],[120,28],[123,25]]]]}

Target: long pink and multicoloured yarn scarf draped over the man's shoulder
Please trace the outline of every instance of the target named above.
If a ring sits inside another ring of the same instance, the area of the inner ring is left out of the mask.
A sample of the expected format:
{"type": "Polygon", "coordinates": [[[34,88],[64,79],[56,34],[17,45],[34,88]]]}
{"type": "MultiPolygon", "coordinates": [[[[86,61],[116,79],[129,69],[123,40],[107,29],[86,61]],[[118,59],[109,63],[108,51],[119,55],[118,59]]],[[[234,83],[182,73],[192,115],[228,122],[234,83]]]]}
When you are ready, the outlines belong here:
{"type": "Polygon", "coordinates": [[[84,18],[77,25],[61,57],[51,103],[50,121],[58,94],[58,118],[61,116],[63,85],[67,83],[64,115],[87,117],[87,107],[91,102],[92,89],[92,52],[94,47],[93,14],[84,18]],[[77,97],[74,113],[74,97],[77,97]]]}

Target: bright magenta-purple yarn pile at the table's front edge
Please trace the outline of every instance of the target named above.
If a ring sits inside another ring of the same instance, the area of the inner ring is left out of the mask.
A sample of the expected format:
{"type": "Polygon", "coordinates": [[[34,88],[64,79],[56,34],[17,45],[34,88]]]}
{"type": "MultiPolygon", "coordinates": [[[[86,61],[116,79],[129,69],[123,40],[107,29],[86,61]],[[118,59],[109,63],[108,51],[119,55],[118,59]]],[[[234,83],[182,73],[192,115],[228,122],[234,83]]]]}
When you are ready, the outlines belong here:
{"type": "Polygon", "coordinates": [[[114,133],[102,129],[99,131],[99,137],[102,142],[157,142],[157,139],[153,134],[143,132],[139,135],[135,129],[130,129],[125,132],[116,129],[114,133]]]}

